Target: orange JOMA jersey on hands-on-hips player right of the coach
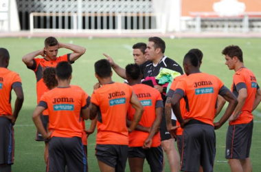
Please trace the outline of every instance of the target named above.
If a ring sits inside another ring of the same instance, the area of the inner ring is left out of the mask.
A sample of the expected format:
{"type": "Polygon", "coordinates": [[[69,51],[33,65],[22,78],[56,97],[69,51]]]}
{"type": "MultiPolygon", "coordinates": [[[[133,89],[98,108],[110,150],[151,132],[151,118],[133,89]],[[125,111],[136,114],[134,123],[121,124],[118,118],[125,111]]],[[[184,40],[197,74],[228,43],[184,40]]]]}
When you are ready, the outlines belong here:
{"type": "Polygon", "coordinates": [[[212,125],[218,94],[227,90],[216,76],[197,73],[190,74],[177,84],[175,94],[183,96],[188,113],[183,118],[194,118],[212,125]]]}

